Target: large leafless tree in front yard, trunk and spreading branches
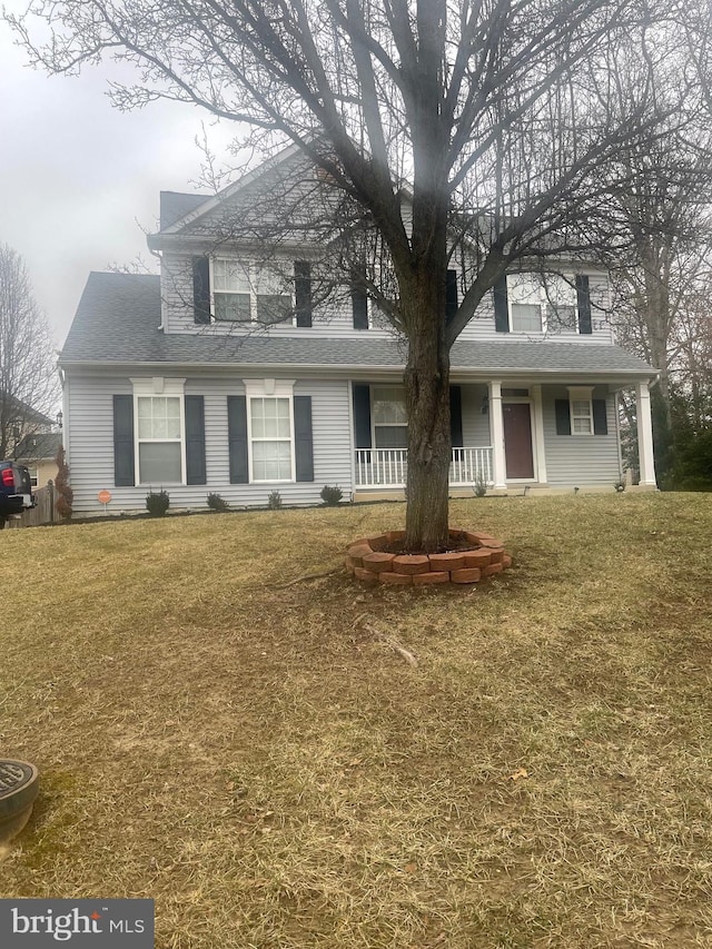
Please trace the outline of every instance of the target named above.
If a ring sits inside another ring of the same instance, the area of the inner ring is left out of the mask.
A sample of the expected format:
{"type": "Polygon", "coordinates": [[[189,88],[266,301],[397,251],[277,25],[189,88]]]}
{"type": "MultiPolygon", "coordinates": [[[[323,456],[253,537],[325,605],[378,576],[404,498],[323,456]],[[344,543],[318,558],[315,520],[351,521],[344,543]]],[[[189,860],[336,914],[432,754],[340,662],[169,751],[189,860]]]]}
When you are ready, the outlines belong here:
{"type": "MultiPolygon", "coordinates": [[[[616,239],[621,156],[674,117],[614,96],[611,67],[655,23],[643,60],[654,71],[679,6],[36,0],[13,22],[53,72],[102,52],[135,63],[137,85],[113,90],[120,108],[178,99],[295,142],[360,209],[395,275],[386,316],[407,342],[406,546],[432,551],[447,541],[451,347],[518,261],[616,239]],[[52,30],[44,47],[33,16],[52,30]],[[446,318],[463,248],[466,291],[446,318]]],[[[674,88],[684,95],[684,77],[674,88]]]]}

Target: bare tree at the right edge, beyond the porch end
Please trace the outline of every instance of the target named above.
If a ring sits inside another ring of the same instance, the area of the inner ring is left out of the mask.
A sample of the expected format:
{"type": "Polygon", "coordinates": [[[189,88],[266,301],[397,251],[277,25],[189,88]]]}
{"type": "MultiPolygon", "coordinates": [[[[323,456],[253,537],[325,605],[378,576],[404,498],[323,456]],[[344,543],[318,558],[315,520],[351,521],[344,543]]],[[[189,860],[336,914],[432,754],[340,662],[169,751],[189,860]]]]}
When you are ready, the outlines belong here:
{"type": "Polygon", "coordinates": [[[652,73],[641,61],[645,55],[643,46],[637,62],[629,60],[616,70],[616,96],[674,119],[664,138],[633,146],[621,157],[630,185],[614,207],[625,241],[606,257],[617,294],[621,342],[660,370],[651,399],[656,471],[664,477],[674,463],[672,388],[681,370],[678,330],[710,266],[712,113],[704,109],[692,37],[684,53],[671,51],[666,63],[652,73]],[[693,81],[681,100],[674,83],[685,68],[693,81]],[[646,82],[641,73],[649,75],[646,82]]]}

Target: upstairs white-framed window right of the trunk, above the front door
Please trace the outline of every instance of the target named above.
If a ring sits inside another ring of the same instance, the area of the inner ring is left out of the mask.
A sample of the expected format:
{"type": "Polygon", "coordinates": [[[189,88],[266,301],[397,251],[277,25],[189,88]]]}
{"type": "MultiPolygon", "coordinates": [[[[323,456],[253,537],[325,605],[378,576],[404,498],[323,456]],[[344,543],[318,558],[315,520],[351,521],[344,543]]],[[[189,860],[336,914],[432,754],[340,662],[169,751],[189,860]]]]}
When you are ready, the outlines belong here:
{"type": "Polygon", "coordinates": [[[573,276],[510,274],[507,277],[511,333],[578,330],[573,276]]]}

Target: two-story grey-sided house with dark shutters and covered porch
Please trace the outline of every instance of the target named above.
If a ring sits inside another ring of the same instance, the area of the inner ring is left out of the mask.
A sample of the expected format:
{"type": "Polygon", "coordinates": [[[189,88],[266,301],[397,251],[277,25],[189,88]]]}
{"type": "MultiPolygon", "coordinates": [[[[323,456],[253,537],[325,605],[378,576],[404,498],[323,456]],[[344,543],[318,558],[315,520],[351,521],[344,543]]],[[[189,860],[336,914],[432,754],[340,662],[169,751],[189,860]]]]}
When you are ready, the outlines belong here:
{"type": "MultiPolygon", "coordinates": [[[[239,230],[240,208],[295,160],[287,150],[219,196],[164,192],[149,238],[160,276],[90,274],[60,357],[76,512],[101,510],[101,490],[117,511],[144,510],[161,488],[175,507],[202,507],[208,493],[264,506],[273,491],[316,504],[324,485],[356,501],[403,496],[403,340],[360,287],[336,301],[313,293],[306,238],[267,260],[239,230]]],[[[612,490],[616,394],[630,386],[641,485],[655,486],[655,370],[615,345],[606,274],[556,271],[502,280],[453,347],[454,494],[477,481],[612,490]]],[[[461,293],[453,269],[448,306],[461,293]]]]}

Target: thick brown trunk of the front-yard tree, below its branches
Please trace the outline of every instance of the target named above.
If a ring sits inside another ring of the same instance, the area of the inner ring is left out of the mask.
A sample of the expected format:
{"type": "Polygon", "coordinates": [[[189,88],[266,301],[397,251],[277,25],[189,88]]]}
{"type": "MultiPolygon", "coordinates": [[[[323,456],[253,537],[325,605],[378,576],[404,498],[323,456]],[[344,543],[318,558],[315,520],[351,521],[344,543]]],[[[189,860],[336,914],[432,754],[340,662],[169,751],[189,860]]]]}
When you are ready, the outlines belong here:
{"type": "Polygon", "coordinates": [[[445,281],[423,274],[415,289],[408,360],[408,551],[437,551],[448,541],[447,501],[451,462],[449,353],[444,343],[445,281]],[[442,283],[442,286],[441,286],[442,283]]]}

